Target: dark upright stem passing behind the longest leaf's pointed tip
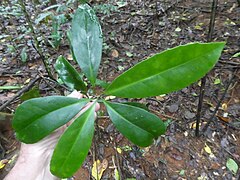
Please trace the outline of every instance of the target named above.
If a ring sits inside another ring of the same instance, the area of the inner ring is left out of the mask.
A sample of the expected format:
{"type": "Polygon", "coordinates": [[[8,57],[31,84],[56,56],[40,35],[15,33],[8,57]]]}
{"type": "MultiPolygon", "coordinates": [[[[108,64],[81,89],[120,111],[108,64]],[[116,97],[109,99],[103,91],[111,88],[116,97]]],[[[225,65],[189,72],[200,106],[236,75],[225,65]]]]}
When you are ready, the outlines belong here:
{"type": "MultiPolygon", "coordinates": [[[[215,25],[217,4],[218,4],[218,0],[213,0],[212,1],[212,10],[211,10],[211,18],[210,18],[210,23],[209,23],[207,42],[212,41],[214,25],[215,25]]],[[[204,93],[205,93],[206,78],[207,78],[207,75],[204,76],[201,79],[201,87],[200,87],[200,94],[199,94],[199,101],[198,101],[198,109],[197,109],[197,115],[196,115],[196,131],[195,131],[195,135],[197,137],[199,136],[199,126],[200,126],[200,121],[201,121],[201,112],[202,112],[203,98],[204,98],[204,93]]]]}

